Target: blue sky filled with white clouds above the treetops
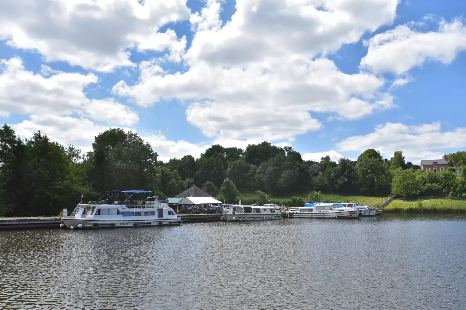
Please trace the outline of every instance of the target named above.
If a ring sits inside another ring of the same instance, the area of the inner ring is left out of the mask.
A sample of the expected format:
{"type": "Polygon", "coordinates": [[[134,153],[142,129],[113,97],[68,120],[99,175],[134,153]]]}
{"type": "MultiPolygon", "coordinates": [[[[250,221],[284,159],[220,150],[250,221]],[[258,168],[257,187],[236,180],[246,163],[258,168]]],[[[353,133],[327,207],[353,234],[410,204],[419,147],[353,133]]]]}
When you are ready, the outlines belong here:
{"type": "Polygon", "coordinates": [[[466,1],[0,0],[0,121],[83,152],[466,150],[466,1]]]}

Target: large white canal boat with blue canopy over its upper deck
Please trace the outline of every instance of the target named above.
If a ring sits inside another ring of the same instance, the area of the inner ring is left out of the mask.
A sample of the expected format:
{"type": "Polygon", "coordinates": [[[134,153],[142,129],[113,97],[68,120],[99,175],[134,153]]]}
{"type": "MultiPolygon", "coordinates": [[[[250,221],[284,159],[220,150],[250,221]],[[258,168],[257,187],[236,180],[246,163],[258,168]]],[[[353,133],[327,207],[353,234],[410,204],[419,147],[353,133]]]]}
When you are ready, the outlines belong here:
{"type": "Polygon", "coordinates": [[[168,206],[167,198],[150,196],[151,193],[149,190],[107,191],[98,201],[79,203],[69,216],[64,209],[60,227],[85,229],[181,224],[181,218],[168,206]],[[135,195],[145,198],[135,200],[135,195]]]}

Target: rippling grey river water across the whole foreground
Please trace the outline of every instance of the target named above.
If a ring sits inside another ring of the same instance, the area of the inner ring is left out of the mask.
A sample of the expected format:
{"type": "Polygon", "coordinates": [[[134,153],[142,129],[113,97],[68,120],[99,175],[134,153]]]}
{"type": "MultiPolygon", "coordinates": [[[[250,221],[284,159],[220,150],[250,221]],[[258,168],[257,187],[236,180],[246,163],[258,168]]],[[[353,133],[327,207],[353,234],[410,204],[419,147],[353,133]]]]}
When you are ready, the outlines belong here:
{"type": "Polygon", "coordinates": [[[0,231],[0,309],[465,309],[466,217],[0,231]]]}

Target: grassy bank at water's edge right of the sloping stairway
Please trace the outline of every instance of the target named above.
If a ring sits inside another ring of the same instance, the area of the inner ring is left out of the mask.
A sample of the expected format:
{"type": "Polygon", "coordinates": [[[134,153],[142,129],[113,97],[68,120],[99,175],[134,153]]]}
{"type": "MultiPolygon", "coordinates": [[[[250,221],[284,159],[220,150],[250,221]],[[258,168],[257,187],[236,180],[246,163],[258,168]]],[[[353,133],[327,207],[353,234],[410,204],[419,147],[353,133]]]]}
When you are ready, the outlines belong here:
{"type": "Polygon", "coordinates": [[[384,208],[386,212],[466,213],[466,200],[398,198],[384,208]]]}

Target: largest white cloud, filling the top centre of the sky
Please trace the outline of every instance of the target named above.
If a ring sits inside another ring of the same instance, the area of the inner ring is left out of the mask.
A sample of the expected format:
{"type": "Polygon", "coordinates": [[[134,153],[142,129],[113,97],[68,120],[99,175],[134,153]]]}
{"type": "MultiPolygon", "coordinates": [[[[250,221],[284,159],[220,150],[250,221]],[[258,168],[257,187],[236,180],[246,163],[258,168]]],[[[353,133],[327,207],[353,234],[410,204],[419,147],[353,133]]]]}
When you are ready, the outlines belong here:
{"type": "Polygon", "coordinates": [[[188,101],[187,120],[217,139],[278,141],[321,128],[310,113],[360,119],[393,107],[373,74],[344,74],[317,54],[356,42],[391,23],[397,0],[238,0],[222,27],[219,1],[191,15],[187,71],[164,72],[159,60],[139,65],[134,86],[113,93],[142,106],[188,101]],[[194,102],[193,102],[194,101],[194,102]]]}

